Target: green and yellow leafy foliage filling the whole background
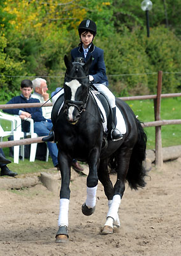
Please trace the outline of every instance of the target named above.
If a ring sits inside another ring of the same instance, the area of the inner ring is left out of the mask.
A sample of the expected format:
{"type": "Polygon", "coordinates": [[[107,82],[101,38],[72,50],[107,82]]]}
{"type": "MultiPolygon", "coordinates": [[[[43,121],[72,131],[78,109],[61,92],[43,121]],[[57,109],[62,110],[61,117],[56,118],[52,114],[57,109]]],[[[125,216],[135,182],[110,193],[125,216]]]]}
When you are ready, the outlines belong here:
{"type": "Polygon", "coordinates": [[[83,19],[98,26],[95,44],[105,51],[116,95],[155,93],[158,70],[167,72],[163,92],[177,92],[180,76],[173,73],[180,71],[180,7],[179,0],[153,3],[147,38],[140,0],[0,0],[0,99],[17,95],[25,77],[45,77],[50,90],[62,86],[64,54],[78,45],[83,19]]]}

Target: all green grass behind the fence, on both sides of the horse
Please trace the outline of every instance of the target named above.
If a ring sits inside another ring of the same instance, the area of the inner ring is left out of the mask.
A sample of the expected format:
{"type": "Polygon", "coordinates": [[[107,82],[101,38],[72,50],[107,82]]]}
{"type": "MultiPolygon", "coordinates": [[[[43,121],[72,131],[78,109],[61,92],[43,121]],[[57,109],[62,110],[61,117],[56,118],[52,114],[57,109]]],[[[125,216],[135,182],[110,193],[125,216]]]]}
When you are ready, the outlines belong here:
{"type": "MultiPolygon", "coordinates": [[[[0,102],[0,104],[5,104],[5,102],[0,102]]],[[[127,101],[127,104],[133,109],[135,115],[138,115],[138,119],[141,122],[151,122],[154,121],[154,102],[153,100],[132,100],[127,101]]],[[[170,120],[170,119],[181,119],[180,116],[180,106],[181,98],[165,98],[161,100],[161,119],[170,120]]],[[[3,128],[8,131],[10,129],[10,122],[1,121],[3,128]]],[[[181,145],[181,125],[164,125],[162,126],[162,143],[163,147],[170,147],[173,145],[181,145]]],[[[155,127],[145,128],[147,133],[147,148],[155,148],[155,127]]],[[[7,138],[6,138],[7,140],[7,138]]],[[[8,157],[9,148],[3,149],[5,156],[8,157]]],[[[35,160],[34,163],[30,163],[29,159],[25,161],[19,161],[19,164],[12,163],[8,165],[10,170],[17,172],[18,174],[22,173],[33,173],[40,172],[42,169],[53,168],[51,157],[49,157],[48,162],[35,160]]]]}

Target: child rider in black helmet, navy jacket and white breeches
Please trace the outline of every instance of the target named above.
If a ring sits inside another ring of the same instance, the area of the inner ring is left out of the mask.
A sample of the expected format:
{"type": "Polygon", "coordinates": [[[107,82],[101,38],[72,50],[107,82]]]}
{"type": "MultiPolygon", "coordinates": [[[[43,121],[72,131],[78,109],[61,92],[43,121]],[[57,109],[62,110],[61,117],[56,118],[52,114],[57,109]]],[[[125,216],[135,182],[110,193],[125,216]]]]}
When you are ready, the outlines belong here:
{"type": "MultiPolygon", "coordinates": [[[[115,105],[115,96],[108,89],[108,79],[106,77],[106,67],[104,61],[104,52],[102,49],[96,47],[92,41],[97,33],[96,23],[92,20],[82,20],[78,26],[78,33],[80,36],[80,44],[75,49],[71,50],[71,60],[75,61],[76,58],[82,57],[85,62],[89,60],[92,56],[92,64],[89,69],[89,80],[94,86],[98,89],[99,92],[103,92],[112,107],[113,113],[113,124],[111,131],[111,138],[113,141],[121,140],[122,134],[118,129],[116,129],[116,105],[115,105]]],[[[54,134],[50,134],[46,138],[47,140],[52,140],[54,134]]],[[[45,138],[44,138],[45,140],[45,138]]]]}

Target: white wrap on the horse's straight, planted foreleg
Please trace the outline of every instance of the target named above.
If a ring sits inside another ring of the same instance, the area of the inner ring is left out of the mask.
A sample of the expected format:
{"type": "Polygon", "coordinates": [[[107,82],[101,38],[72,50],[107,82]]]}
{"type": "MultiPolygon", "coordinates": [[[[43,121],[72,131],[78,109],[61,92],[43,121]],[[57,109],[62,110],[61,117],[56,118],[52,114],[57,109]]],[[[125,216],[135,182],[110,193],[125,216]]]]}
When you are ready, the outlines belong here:
{"type": "Polygon", "coordinates": [[[60,212],[59,212],[59,226],[68,227],[68,210],[69,210],[69,199],[62,198],[60,200],[60,212]]]}

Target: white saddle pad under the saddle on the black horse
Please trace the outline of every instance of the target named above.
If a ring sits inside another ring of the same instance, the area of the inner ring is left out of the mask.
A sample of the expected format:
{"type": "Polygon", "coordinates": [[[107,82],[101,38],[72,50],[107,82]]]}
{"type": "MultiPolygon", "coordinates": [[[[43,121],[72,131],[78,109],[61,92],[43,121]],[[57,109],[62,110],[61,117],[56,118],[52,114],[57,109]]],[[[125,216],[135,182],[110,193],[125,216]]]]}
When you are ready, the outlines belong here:
{"type": "MultiPolygon", "coordinates": [[[[101,110],[102,115],[104,116],[105,122],[103,122],[103,128],[104,128],[104,131],[106,132],[106,131],[108,131],[108,128],[107,128],[107,118],[106,118],[105,109],[103,108],[101,101],[98,99],[98,97],[96,97],[96,94],[97,94],[97,92],[94,93],[94,91],[92,91],[92,95],[94,96],[94,99],[96,100],[98,107],[101,110]]],[[[117,107],[116,107],[116,117],[117,117],[116,128],[119,129],[119,131],[122,134],[125,134],[126,133],[126,124],[125,124],[125,121],[124,121],[124,118],[122,116],[120,109],[117,107]]]]}

